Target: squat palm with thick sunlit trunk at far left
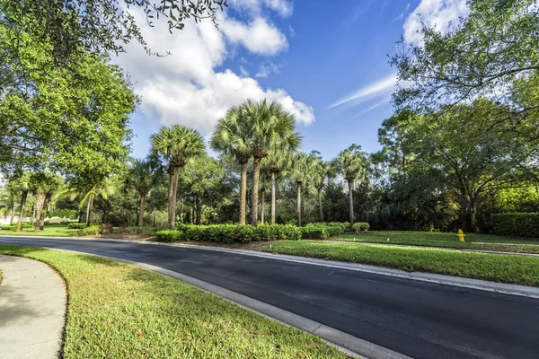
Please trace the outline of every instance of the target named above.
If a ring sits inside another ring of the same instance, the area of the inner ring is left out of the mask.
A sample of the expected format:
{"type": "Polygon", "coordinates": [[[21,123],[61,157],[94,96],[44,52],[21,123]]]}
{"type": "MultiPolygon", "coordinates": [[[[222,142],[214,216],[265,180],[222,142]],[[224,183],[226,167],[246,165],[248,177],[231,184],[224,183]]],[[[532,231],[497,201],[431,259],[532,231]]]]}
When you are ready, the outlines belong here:
{"type": "Polygon", "coordinates": [[[52,195],[62,186],[63,180],[50,172],[34,172],[31,174],[31,190],[36,196],[35,231],[43,231],[45,221],[45,208],[48,206],[52,195]]]}

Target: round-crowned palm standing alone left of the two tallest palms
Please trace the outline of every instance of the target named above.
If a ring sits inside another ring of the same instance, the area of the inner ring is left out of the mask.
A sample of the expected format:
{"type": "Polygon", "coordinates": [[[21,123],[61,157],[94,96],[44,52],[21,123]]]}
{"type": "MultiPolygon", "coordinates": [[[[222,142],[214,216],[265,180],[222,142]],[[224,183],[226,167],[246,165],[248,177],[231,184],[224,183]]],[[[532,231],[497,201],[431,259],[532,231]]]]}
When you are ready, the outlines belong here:
{"type": "Polygon", "coordinates": [[[204,141],[199,131],[181,125],[161,127],[152,135],[152,150],[168,160],[169,184],[169,220],[172,229],[176,221],[176,194],[178,191],[179,171],[187,161],[204,153],[204,141]]]}

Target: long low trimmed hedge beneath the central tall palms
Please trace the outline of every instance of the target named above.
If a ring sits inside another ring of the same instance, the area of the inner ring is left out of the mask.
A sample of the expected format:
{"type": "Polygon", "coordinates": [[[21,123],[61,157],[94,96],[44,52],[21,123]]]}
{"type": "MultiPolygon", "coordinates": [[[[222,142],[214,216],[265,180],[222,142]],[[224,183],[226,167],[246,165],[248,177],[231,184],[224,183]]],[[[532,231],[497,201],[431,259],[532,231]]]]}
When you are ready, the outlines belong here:
{"type": "Polygon", "coordinates": [[[250,225],[215,224],[178,226],[178,231],[155,232],[157,241],[216,241],[225,243],[248,243],[250,241],[297,241],[301,230],[294,225],[250,225]]]}

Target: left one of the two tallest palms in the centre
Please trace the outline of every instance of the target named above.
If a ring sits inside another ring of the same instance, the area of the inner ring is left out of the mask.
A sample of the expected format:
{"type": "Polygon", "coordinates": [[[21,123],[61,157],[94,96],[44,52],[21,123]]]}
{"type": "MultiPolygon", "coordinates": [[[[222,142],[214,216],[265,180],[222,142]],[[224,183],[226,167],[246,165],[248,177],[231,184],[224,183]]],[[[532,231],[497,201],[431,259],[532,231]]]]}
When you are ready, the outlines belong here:
{"type": "Polygon", "coordinates": [[[242,106],[233,106],[225,117],[217,121],[216,129],[209,142],[217,152],[231,154],[240,165],[240,224],[245,224],[247,206],[247,163],[251,158],[249,147],[250,127],[244,120],[242,106]]]}

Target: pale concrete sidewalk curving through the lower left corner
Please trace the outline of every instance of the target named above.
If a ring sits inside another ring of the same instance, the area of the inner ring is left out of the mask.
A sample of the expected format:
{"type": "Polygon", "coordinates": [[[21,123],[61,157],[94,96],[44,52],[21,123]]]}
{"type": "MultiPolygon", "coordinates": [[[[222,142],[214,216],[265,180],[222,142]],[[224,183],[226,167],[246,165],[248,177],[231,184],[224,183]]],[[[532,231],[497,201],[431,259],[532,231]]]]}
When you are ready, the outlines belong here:
{"type": "Polygon", "coordinates": [[[63,279],[44,263],[0,255],[0,357],[59,357],[66,314],[63,279]]]}

